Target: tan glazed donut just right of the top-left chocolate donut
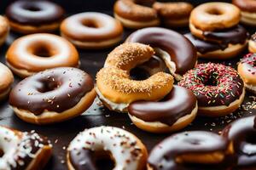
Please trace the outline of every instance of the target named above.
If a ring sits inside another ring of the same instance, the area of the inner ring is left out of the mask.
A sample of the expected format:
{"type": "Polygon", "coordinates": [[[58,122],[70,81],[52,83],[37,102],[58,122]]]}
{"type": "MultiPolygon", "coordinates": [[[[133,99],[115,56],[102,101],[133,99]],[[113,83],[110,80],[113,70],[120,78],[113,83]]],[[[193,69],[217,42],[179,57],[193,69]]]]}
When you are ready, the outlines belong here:
{"type": "Polygon", "coordinates": [[[122,39],[123,26],[108,14],[74,14],[61,23],[61,36],[79,48],[108,48],[122,39]]]}

